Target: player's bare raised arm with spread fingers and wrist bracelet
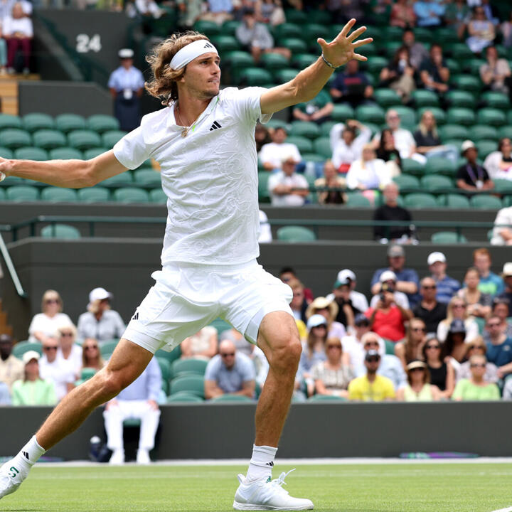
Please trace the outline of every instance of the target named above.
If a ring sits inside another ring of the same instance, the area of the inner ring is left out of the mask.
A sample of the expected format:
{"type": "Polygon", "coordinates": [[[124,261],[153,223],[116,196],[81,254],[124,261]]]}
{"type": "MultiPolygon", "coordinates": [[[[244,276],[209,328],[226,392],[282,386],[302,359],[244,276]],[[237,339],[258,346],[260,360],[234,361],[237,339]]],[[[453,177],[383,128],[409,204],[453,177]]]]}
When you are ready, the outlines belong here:
{"type": "Polygon", "coordinates": [[[351,59],[368,60],[364,55],[356,53],[356,50],[365,44],[371,43],[373,39],[366,38],[356,41],[366,31],[364,26],[348,35],[354,23],[356,23],[354,18],[348,21],[331,43],[318,38],[317,42],[321,46],[324,58],[319,57],[314,64],[302,70],[293,80],[264,92],[260,98],[262,114],[272,114],[286,107],[297,105],[297,103],[312,100],[326,85],[335,68],[346,64],[351,59]]]}

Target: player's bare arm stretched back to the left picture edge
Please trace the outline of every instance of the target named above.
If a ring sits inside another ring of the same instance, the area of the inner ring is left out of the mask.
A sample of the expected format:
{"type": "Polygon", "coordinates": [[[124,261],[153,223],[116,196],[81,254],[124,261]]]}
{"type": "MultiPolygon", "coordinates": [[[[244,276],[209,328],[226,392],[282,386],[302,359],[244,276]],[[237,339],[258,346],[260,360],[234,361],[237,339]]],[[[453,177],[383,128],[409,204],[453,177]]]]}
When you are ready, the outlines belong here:
{"type": "Polygon", "coordinates": [[[126,170],[112,150],[91,160],[33,161],[0,158],[0,171],[6,176],[17,176],[68,188],[93,186],[126,170]]]}

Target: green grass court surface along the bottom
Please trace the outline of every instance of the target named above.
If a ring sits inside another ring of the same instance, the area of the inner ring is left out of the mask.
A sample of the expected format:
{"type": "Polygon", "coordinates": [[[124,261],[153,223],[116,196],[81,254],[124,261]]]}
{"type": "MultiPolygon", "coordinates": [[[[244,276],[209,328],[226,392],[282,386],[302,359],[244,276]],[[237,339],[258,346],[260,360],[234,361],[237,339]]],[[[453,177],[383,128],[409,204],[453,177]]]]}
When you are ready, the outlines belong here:
{"type": "MultiPolygon", "coordinates": [[[[279,465],[277,471],[287,471],[279,465]]],[[[245,466],[36,466],[5,512],[230,511],[245,466]]],[[[299,465],[292,496],[319,512],[491,512],[512,506],[512,464],[299,465]]]]}

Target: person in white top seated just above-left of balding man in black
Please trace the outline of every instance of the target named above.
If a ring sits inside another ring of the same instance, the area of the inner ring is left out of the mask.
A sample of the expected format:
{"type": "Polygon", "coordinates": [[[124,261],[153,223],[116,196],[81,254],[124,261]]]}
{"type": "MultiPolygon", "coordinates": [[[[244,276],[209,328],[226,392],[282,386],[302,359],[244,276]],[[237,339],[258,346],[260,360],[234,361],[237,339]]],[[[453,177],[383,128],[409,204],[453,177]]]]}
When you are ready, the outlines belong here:
{"type": "Polygon", "coordinates": [[[390,181],[391,176],[385,162],[376,157],[372,144],[365,144],[361,159],[353,161],[348,169],[346,176],[348,188],[367,191],[372,188],[382,188],[390,181]]]}

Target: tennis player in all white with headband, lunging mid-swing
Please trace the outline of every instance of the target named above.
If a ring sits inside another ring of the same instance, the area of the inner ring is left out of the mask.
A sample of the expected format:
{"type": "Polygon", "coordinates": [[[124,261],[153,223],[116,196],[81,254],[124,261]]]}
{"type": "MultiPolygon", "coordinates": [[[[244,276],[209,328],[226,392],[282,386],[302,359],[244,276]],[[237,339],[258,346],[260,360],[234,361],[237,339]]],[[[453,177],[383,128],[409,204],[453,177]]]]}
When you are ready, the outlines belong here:
{"type": "Polygon", "coordinates": [[[265,352],[270,370],[256,409],[256,437],[247,474],[233,508],[309,510],[309,499],[272,480],[279,436],[294,388],[301,343],[287,284],[257,264],[259,218],[255,124],[273,112],[314,98],[338,66],[366,60],[356,53],[371,38],[350,33],[349,21],[322,54],[293,80],[265,89],[219,91],[220,58],[206,36],[171,36],[147,60],[154,77],[149,94],[166,108],[144,116],[141,126],[95,159],[23,161],[0,159],[4,176],[53,186],[93,186],[146,159],[161,165],[167,195],[162,270],[135,311],[108,365],[65,396],[38,432],[0,469],[0,498],[20,486],[31,466],[77,429],[95,407],[114,398],[141,373],[159,348],[171,351],[213,319],[227,320],[265,352]]]}

